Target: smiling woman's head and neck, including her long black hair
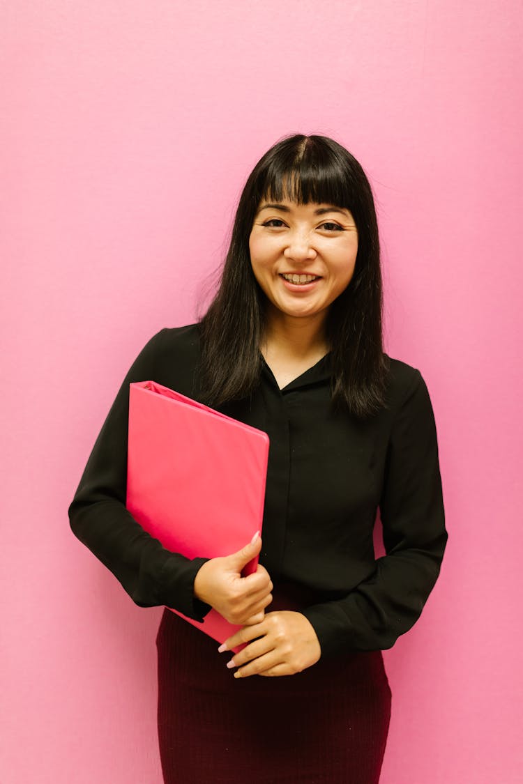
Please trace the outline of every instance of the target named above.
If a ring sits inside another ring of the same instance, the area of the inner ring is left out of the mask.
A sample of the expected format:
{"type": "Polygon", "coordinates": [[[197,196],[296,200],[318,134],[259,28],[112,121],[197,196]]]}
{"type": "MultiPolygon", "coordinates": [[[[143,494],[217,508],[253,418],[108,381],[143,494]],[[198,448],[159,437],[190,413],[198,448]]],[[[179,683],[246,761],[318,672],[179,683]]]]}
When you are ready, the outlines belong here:
{"type": "Polygon", "coordinates": [[[207,401],[222,405],[250,394],[260,378],[260,348],[266,361],[279,348],[274,364],[289,371],[290,363],[296,372],[329,350],[334,404],[355,416],[372,416],[383,407],[387,384],[381,309],[376,210],[361,165],[326,136],[282,140],[263,155],[245,183],[220,289],[202,320],[207,401]],[[281,254],[273,273],[319,274],[321,267],[325,280],[308,290],[307,285],[294,289],[294,278],[285,286],[268,270],[271,252],[281,254]],[[329,272],[325,254],[336,263],[329,272]],[[318,267],[313,267],[317,256],[318,267]],[[332,288],[335,296],[329,296],[332,288]],[[293,314],[280,307],[283,303],[292,304],[296,316],[303,308],[301,314],[313,318],[285,318],[293,314]],[[285,339],[271,340],[276,324],[285,330],[285,339]]]}

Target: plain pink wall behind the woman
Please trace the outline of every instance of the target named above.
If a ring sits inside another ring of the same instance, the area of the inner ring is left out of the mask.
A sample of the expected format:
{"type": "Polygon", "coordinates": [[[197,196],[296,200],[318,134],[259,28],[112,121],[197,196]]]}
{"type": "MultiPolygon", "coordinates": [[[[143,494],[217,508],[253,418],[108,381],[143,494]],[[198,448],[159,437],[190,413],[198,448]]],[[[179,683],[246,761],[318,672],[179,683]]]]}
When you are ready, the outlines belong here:
{"type": "Polygon", "coordinates": [[[522,16],[2,3],[2,784],[161,780],[160,611],[74,539],[67,505],[130,362],[194,320],[245,176],[296,131],[369,173],[387,348],[438,423],[449,550],[386,655],[382,782],[521,782],[522,16]]]}

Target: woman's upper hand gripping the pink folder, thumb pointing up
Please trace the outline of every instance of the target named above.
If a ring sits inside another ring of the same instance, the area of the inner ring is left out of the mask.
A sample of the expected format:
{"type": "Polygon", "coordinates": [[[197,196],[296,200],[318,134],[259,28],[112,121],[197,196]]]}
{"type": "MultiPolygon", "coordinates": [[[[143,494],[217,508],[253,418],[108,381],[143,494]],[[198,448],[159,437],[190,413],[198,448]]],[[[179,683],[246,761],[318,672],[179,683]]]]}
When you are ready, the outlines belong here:
{"type": "Polygon", "coordinates": [[[194,595],[230,623],[245,626],[263,621],[265,608],[272,601],[267,569],[258,564],[256,572],[242,577],[242,569],[260,550],[260,535],[256,535],[238,553],[206,561],[194,579],[194,595]]]}

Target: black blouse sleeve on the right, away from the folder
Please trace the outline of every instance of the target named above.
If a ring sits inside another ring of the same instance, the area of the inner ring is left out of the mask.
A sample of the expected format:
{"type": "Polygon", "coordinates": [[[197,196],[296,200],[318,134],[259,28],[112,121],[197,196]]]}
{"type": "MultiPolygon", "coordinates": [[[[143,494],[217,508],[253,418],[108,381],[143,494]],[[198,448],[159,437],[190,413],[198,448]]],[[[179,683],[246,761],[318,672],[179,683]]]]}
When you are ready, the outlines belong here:
{"type": "Polygon", "coordinates": [[[322,655],[390,648],[416,622],[438,577],[447,533],[434,415],[419,371],[392,424],[380,517],[387,555],[372,575],[339,601],[303,611],[322,655]]]}

